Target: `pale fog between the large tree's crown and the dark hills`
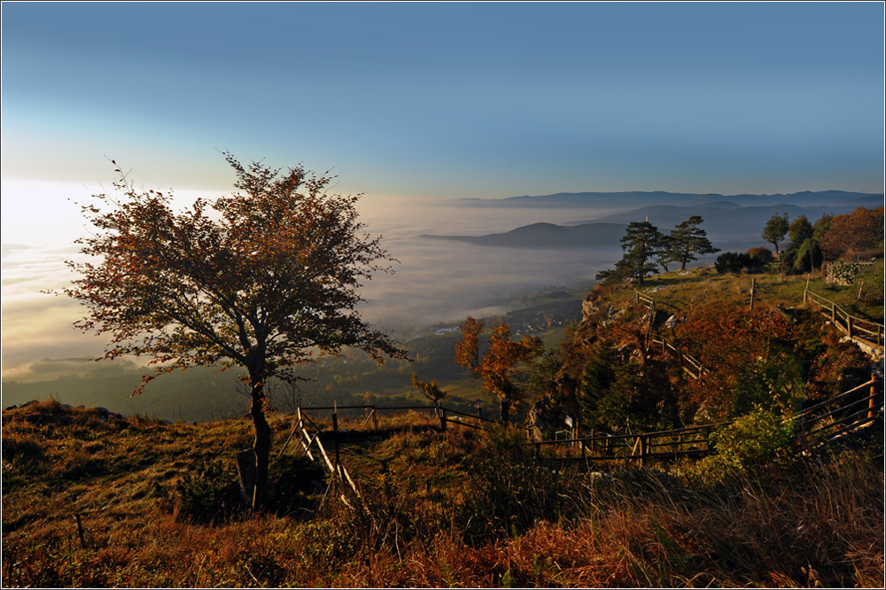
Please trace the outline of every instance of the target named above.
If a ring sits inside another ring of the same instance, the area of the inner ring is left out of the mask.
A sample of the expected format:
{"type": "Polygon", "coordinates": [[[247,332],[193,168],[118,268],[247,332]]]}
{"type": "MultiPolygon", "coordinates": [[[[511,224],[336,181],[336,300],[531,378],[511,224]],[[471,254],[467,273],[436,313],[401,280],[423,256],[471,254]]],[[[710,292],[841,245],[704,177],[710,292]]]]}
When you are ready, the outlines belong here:
{"type": "Polygon", "coordinates": [[[457,322],[465,315],[508,311],[516,296],[548,286],[586,287],[602,268],[621,257],[618,245],[587,248],[499,248],[438,236],[483,236],[535,222],[565,224],[608,211],[504,208],[422,203],[406,198],[368,199],[361,218],[399,263],[363,292],[364,317],[383,327],[422,327],[457,322]]]}

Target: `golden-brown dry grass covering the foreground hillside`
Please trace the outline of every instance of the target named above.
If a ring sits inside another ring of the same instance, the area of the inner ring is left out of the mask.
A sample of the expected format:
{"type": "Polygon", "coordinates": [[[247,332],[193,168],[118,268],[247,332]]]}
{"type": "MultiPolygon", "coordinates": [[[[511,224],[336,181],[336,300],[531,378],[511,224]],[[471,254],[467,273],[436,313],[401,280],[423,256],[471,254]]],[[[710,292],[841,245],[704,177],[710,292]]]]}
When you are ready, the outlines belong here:
{"type": "Polygon", "coordinates": [[[443,433],[423,415],[359,426],[343,461],[371,516],[318,511],[317,494],[313,512],[208,522],[176,512],[175,482],[248,446],[245,421],[103,423],[53,401],[4,412],[3,584],[882,585],[881,435],[874,452],[693,489],[658,471],[539,470],[507,431],[443,433]]]}

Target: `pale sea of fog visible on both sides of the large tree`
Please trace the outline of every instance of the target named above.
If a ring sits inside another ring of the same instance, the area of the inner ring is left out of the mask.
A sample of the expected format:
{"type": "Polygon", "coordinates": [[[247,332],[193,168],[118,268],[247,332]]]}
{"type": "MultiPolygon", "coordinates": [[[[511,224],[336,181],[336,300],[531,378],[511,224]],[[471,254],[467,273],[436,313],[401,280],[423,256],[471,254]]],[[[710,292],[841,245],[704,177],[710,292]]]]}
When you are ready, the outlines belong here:
{"type": "MultiPolygon", "coordinates": [[[[65,260],[77,255],[86,235],[79,207],[60,190],[4,184],[2,301],[4,378],[27,371],[33,361],[96,357],[104,341],[72,326],[82,316],[71,299],[40,291],[64,288],[72,278],[65,260]],[[39,207],[37,207],[39,205],[39,207]]],[[[85,194],[89,194],[86,192],[85,194]]],[[[188,195],[179,193],[187,200],[188,195]]],[[[422,234],[481,236],[546,221],[566,224],[610,210],[503,208],[457,201],[364,196],[361,220],[398,263],[364,285],[364,317],[386,330],[419,330],[458,322],[467,314],[507,311],[517,296],[548,286],[585,287],[618,258],[612,249],[523,249],[430,240],[422,234]]]]}

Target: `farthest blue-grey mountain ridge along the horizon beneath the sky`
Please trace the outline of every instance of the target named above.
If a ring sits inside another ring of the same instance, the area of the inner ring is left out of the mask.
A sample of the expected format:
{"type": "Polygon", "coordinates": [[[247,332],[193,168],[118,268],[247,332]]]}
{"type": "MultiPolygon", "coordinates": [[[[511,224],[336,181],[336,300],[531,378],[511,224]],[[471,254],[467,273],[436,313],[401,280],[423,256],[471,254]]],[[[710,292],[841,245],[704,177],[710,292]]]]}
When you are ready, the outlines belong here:
{"type": "Polygon", "coordinates": [[[611,206],[613,202],[627,207],[649,205],[707,205],[716,202],[733,202],[739,206],[766,205],[830,205],[853,199],[868,202],[878,199],[882,202],[883,193],[851,192],[847,190],[804,190],[789,194],[774,195],[720,195],[719,193],[683,193],[665,190],[624,192],[557,192],[551,195],[523,195],[509,198],[460,198],[454,202],[463,206],[611,206]]]}

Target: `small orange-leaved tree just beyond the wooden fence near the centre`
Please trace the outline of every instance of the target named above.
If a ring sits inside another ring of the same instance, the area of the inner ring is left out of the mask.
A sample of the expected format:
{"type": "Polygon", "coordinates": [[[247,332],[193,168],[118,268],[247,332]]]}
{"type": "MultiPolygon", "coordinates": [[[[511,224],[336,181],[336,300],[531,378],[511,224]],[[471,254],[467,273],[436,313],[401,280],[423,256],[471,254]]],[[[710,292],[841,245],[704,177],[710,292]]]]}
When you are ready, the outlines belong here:
{"type": "Polygon", "coordinates": [[[460,328],[462,337],[455,343],[455,362],[472,369],[483,380],[483,388],[499,398],[501,423],[508,423],[511,406],[521,402],[525,392],[518,365],[532,362],[543,352],[544,345],[541,338],[528,334],[521,340],[512,340],[509,325],[499,323],[490,329],[488,348],[481,355],[483,328],[484,322],[467,317],[460,328]]]}

